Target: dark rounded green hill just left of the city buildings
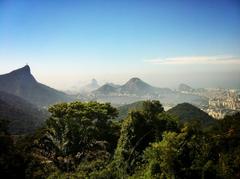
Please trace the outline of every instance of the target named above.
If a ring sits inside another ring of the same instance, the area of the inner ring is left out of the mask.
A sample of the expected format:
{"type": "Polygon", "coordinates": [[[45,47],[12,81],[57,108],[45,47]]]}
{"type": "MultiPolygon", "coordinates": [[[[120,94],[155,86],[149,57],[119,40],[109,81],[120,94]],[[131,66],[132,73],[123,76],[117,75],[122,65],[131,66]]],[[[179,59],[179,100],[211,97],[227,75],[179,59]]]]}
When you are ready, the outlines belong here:
{"type": "Polygon", "coordinates": [[[200,120],[203,124],[214,122],[211,116],[189,103],[178,104],[169,109],[167,113],[179,117],[180,122],[187,122],[193,119],[200,120]]]}

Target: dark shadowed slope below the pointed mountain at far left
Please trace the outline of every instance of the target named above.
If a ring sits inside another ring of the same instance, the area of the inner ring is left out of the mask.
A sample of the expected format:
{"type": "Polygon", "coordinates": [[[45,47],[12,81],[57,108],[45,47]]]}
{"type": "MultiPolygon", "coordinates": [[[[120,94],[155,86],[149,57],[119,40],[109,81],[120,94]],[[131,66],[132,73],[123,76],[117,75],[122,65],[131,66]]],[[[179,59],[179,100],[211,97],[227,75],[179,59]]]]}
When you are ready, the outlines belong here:
{"type": "Polygon", "coordinates": [[[0,91],[0,120],[8,120],[9,132],[24,134],[33,132],[47,118],[47,111],[21,99],[0,91]]]}

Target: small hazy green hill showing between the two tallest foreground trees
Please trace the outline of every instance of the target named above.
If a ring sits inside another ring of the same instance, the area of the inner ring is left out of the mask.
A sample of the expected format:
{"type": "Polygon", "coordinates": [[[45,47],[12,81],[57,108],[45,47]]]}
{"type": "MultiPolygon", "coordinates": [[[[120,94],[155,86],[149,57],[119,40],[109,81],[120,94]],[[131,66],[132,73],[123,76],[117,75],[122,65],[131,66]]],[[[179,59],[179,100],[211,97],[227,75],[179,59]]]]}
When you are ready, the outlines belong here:
{"type": "Polygon", "coordinates": [[[127,117],[128,113],[132,110],[141,110],[143,108],[143,101],[126,104],[118,107],[118,120],[123,120],[127,117]]]}

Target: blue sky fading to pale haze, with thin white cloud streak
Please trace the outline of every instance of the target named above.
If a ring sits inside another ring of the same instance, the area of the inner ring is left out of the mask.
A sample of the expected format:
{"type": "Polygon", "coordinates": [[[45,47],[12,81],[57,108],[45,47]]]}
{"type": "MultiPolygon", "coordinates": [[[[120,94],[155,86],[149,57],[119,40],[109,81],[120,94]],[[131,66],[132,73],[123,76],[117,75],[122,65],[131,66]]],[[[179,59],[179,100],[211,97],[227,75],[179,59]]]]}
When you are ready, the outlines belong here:
{"type": "Polygon", "coordinates": [[[239,0],[0,0],[0,74],[28,63],[57,89],[240,88],[239,0]]]}

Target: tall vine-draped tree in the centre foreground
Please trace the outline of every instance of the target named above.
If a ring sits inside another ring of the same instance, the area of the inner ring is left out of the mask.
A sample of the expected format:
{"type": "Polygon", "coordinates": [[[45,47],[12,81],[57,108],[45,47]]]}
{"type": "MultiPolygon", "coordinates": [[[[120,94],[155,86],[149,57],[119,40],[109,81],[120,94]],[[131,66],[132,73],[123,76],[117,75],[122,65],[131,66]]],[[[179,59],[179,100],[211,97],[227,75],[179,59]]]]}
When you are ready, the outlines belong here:
{"type": "Polygon", "coordinates": [[[177,128],[159,101],[146,101],[142,111],[132,111],[123,121],[113,163],[123,175],[132,174],[149,143],[161,139],[162,132],[177,128]]]}

